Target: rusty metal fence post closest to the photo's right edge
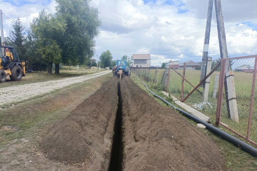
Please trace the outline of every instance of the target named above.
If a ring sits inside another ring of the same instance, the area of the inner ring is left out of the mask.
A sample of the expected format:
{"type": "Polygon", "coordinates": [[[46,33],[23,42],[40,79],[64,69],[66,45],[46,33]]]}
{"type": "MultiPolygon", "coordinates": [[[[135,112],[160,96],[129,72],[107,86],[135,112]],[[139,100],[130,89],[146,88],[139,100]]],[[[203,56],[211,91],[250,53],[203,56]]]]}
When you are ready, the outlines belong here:
{"type": "Polygon", "coordinates": [[[254,74],[252,78],[252,92],[251,92],[251,100],[250,100],[250,111],[249,111],[249,118],[248,118],[248,127],[247,127],[247,135],[246,139],[249,139],[250,136],[250,129],[251,129],[251,121],[252,121],[252,105],[253,105],[253,99],[254,99],[254,88],[255,88],[255,80],[256,80],[256,67],[257,67],[257,57],[254,61],[254,74]]]}

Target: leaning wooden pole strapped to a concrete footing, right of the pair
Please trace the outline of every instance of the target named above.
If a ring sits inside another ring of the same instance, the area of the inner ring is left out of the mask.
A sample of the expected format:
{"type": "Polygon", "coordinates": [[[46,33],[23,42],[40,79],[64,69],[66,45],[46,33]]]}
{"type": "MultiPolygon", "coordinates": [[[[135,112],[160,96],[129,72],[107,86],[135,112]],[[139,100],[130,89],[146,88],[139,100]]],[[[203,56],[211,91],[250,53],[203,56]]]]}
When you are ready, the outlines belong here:
{"type": "MultiPolygon", "coordinates": [[[[226,43],[224,18],[222,15],[221,0],[214,0],[214,3],[215,3],[218,38],[219,38],[219,45],[220,45],[220,58],[228,58],[228,49],[227,49],[227,43],[226,43]]],[[[233,75],[233,71],[230,70],[229,60],[226,60],[224,87],[225,87],[228,117],[232,121],[239,123],[234,75],[233,75]]]]}

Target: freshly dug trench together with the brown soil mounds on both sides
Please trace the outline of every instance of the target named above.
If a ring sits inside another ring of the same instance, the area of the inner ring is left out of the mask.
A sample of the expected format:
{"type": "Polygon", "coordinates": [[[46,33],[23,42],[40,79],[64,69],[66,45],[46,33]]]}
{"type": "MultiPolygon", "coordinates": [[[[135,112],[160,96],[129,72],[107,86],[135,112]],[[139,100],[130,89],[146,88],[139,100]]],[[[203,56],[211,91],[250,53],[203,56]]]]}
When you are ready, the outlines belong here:
{"type": "Polygon", "coordinates": [[[216,171],[225,163],[210,137],[127,76],[104,83],[40,146],[47,158],[87,171],[216,171]]]}

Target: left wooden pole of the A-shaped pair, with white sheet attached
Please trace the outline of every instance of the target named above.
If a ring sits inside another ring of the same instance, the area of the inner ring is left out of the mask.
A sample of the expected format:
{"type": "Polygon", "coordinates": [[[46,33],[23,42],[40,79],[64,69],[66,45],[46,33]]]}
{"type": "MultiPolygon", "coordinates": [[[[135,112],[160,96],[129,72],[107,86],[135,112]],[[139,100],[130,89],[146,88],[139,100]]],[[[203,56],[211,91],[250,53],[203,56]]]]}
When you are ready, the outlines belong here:
{"type": "MultiPolygon", "coordinates": [[[[206,76],[207,70],[207,61],[208,61],[208,49],[209,49],[209,42],[210,42],[210,28],[212,23],[212,8],[213,8],[213,0],[209,0],[208,4],[208,13],[207,13],[207,21],[206,21],[206,28],[205,28],[205,37],[204,37],[204,47],[202,53],[202,65],[201,65],[201,75],[200,81],[206,76]]],[[[202,82],[200,87],[204,87],[205,82],[202,82]]]]}

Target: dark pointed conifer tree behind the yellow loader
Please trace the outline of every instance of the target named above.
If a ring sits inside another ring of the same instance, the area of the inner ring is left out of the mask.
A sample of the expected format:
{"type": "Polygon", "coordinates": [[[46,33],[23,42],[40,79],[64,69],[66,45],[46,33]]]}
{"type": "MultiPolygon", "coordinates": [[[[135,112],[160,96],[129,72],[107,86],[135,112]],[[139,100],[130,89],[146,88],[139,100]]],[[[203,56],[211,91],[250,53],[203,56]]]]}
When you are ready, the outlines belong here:
{"type": "Polygon", "coordinates": [[[18,17],[15,24],[12,25],[13,29],[10,29],[9,38],[11,40],[10,46],[14,46],[17,50],[19,58],[21,60],[27,60],[26,58],[26,34],[24,27],[21,25],[21,19],[18,17]]]}

